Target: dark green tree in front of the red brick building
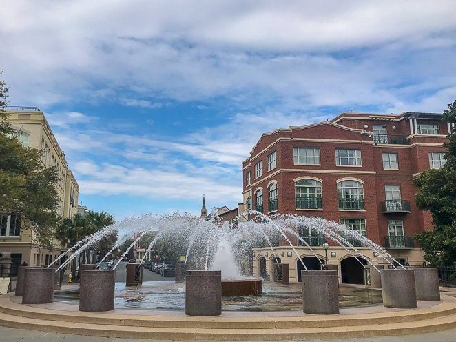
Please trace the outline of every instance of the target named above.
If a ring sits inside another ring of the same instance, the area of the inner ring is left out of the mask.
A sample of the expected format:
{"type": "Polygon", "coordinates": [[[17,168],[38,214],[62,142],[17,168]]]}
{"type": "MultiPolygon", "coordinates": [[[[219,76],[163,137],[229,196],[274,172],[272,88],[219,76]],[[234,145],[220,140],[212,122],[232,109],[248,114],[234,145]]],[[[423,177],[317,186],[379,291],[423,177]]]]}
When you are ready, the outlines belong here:
{"type": "MultiPolygon", "coordinates": [[[[456,101],[448,104],[442,119],[456,125],[456,101]]],[[[434,230],[417,235],[424,250],[424,259],[433,265],[456,264],[456,129],[448,134],[445,143],[445,165],[437,170],[423,172],[415,185],[418,208],[433,216],[434,230]]]]}

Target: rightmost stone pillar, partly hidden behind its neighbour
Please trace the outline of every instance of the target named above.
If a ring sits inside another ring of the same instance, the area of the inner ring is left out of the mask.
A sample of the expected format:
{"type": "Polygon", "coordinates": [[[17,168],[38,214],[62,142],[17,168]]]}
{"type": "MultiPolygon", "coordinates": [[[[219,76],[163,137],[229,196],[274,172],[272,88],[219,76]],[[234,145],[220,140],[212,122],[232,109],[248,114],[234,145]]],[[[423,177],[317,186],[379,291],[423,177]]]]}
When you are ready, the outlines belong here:
{"type": "Polygon", "coordinates": [[[419,301],[439,301],[439,272],[437,268],[414,268],[415,288],[419,301]]]}

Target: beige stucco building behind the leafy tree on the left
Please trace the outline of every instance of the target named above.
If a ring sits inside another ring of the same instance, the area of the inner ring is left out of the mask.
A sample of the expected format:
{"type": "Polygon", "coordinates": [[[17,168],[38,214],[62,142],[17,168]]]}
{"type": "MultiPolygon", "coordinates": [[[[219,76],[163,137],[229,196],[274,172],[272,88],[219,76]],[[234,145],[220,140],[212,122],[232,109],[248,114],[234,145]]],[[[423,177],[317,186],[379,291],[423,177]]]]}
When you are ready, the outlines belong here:
{"type": "MultiPolygon", "coordinates": [[[[60,198],[58,213],[65,218],[73,217],[77,212],[79,185],[68,169],[65,154],[43,112],[35,107],[6,107],[4,110],[12,128],[19,133],[21,143],[43,150],[45,166],[56,166],[60,176],[57,184],[60,198]]],[[[13,264],[25,261],[30,266],[47,265],[67,249],[58,241],[55,241],[54,245],[54,250],[50,251],[34,244],[30,230],[21,227],[19,217],[0,217],[0,253],[10,253],[13,264]]]]}

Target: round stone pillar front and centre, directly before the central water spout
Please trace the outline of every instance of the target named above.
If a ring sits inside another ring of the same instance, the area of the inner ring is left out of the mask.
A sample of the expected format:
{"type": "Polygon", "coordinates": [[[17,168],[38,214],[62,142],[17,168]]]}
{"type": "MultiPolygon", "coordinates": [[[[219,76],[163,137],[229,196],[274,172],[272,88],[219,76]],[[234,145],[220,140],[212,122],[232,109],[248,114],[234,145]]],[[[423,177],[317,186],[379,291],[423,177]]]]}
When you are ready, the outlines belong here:
{"type": "Polygon", "coordinates": [[[222,314],[222,272],[188,270],[185,274],[185,314],[220,316],[222,314]]]}

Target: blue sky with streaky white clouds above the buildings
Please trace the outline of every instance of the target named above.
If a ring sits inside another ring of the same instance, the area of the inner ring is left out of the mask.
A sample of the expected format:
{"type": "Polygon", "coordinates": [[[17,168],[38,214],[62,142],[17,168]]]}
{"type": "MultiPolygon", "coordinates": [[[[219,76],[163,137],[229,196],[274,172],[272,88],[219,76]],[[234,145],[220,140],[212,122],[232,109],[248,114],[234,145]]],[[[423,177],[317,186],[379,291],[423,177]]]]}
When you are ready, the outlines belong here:
{"type": "Polygon", "coordinates": [[[122,219],[242,202],[263,132],[443,112],[455,1],[0,0],[10,105],[39,107],[79,202],[122,219]]]}

